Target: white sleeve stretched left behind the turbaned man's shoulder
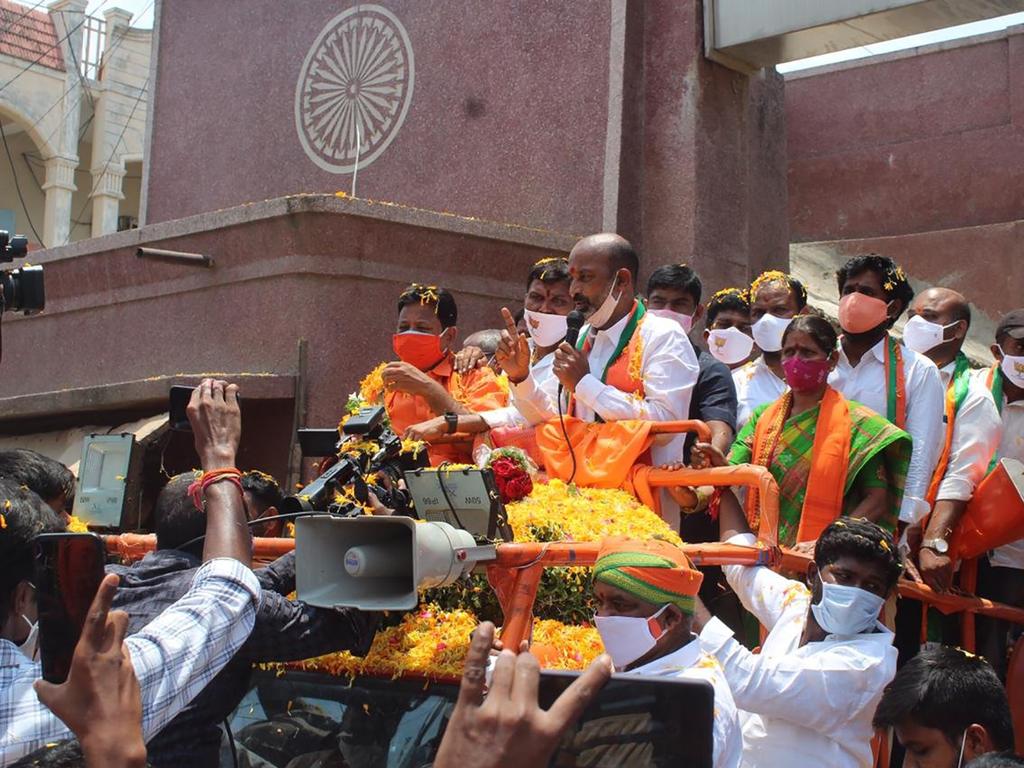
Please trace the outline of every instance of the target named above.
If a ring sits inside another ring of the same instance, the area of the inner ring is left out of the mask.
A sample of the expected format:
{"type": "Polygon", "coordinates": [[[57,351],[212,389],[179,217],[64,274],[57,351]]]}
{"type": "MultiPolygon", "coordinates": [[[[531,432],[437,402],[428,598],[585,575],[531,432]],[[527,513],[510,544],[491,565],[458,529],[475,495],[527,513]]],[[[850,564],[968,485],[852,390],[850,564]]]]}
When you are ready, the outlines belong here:
{"type": "Polygon", "coordinates": [[[722,665],[740,710],[821,733],[846,727],[851,713],[871,705],[881,690],[879,676],[866,674],[879,659],[845,644],[808,656],[752,653],[713,618],[700,645],[722,665]]]}

